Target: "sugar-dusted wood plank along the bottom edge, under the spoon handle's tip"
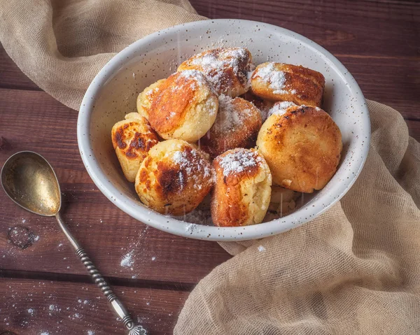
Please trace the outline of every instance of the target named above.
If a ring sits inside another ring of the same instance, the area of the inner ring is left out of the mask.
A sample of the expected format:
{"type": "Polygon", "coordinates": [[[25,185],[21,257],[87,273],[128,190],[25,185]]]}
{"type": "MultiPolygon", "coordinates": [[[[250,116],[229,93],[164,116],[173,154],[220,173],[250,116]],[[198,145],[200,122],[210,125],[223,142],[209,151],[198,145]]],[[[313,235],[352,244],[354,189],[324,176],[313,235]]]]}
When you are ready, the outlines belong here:
{"type": "MultiPolygon", "coordinates": [[[[113,287],[149,334],[172,334],[189,292],[113,287]]],[[[0,278],[0,334],[125,334],[93,284],[0,278]]]]}

